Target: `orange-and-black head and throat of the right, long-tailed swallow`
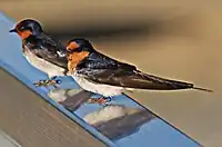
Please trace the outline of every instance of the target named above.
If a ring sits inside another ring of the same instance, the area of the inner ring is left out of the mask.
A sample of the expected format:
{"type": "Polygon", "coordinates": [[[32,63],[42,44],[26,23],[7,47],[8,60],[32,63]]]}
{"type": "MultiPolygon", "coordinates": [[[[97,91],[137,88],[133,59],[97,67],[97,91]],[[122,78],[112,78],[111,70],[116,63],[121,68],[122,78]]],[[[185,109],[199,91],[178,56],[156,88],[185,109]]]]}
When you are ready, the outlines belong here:
{"type": "Polygon", "coordinates": [[[90,41],[85,39],[72,39],[68,42],[68,68],[72,72],[74,68],[94,51],[90,41]]]}

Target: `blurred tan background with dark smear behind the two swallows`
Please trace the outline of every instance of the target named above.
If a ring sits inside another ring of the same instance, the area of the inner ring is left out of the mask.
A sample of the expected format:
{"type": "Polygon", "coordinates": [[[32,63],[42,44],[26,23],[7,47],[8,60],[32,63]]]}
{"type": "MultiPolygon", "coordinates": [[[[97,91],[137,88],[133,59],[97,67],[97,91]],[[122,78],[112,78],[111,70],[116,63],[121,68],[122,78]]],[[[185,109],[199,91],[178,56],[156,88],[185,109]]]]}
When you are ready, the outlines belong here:
{"type": "Polygon", "coordinates": [[[222,146],[222,1],[6,0],[0,10],[39,20],[64,43],[84,37],[145,72],[213,89],[129,95],[202,145],[222,146]]]}

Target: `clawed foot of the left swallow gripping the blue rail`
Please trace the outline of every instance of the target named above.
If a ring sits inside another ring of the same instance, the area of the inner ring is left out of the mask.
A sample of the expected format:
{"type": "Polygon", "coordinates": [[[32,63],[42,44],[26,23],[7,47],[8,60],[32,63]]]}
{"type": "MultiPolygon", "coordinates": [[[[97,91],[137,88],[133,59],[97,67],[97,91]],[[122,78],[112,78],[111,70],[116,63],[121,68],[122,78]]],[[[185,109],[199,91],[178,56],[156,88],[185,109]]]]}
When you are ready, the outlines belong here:
{"type": "Polygon", "coordinates": [[[44,79],[44,80],[39,80],[34,82],[33,85],[36,87],[49,87],[53,86],[54,88],[58,88],[57,86],[62,82],[61,79],[56,79],[57,77],[52,77],[51,79],[44,79]]]}

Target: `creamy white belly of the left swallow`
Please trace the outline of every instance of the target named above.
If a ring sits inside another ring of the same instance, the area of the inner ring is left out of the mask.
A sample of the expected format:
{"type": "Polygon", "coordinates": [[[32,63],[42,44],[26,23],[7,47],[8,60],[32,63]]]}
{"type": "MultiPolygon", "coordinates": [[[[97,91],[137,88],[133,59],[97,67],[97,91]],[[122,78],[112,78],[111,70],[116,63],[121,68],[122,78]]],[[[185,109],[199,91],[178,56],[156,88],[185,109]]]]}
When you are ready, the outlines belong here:
{"type": "Polygon", "coordinates": [[[26,51],[23,52],[23,56],[33,67],[38,68],[39,70],[41,70],[46,74],[48,74],[49,77],[63,76],[64,75],[63,68],[56,66],[56,65],[53,65],[49,61],[46,61],[41,58],[38,58],[34,53],[32,53],[28,49],[26,49],[26,51]]]}

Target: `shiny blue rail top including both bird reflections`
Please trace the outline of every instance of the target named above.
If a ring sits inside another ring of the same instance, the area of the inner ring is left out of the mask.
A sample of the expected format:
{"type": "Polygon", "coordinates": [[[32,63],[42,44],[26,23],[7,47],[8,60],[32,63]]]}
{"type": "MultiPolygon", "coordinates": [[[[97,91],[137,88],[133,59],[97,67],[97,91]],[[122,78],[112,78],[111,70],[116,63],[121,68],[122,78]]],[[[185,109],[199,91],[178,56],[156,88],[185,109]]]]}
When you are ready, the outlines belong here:
{"type": "Polygon", "coordinates": [[[33,81],[46,79],[46,75],[22,57],[21,40],[9,35],[12,27],[13,23],[0,14],[0,66],[108,146],[200,146],[128,96],[114,97],[108,106],[88,104],[91,94],[78,92],[70,77],[61,77],[60,88],[64,90],[34,87],[33,81]]]}

